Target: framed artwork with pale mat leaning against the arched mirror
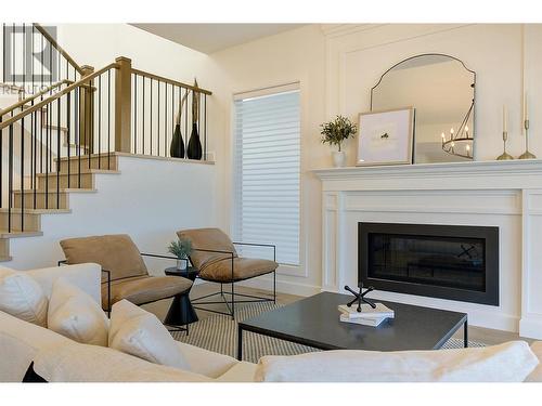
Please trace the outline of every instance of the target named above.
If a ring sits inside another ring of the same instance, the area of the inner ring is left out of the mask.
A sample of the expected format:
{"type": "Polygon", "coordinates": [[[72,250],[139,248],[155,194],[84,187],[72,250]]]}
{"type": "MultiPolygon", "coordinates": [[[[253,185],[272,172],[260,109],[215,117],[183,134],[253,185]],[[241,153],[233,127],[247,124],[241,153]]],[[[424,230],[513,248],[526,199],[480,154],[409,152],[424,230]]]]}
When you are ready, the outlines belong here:
{"type": "Polygon", "coordinates": [[[361,113],[357,166],[412,163],[413,107],[361,113]]]}

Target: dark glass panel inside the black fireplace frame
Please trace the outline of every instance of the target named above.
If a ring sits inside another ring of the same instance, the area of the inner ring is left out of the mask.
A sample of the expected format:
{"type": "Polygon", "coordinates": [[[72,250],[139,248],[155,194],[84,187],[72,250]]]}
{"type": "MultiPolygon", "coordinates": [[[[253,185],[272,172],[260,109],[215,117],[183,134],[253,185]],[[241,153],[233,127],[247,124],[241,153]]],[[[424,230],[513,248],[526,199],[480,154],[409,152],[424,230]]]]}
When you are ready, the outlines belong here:
{"type": "Polygon", "coordinates": [[[369,276],[483,292],[486,240],[369,233],[369,276]]]}

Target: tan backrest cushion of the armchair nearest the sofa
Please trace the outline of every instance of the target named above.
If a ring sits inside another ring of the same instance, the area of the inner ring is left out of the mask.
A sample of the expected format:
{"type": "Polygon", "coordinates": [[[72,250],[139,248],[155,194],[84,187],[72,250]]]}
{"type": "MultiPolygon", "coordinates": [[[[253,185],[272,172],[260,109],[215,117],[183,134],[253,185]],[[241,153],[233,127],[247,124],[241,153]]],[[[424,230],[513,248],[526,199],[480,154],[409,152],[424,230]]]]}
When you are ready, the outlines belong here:
{"type": "Polygon", "coordinates": [[[60,244],[68,264],[95,262],[111,272],[112,280],[147,274],[138,247],[126,234],[69,238],[60,244]]]}

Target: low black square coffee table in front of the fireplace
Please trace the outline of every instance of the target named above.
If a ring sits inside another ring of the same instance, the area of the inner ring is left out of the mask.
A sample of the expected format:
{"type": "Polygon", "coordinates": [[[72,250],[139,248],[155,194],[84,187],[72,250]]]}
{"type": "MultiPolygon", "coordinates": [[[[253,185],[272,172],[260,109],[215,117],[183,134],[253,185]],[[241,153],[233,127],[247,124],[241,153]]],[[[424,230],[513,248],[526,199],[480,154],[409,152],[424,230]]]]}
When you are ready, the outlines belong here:
{"type": "Polygon", "coordinates": [[[378,300],[395,318],[378,327],[339,322],[337,306],[351,296],[323,292],[238,323],[237,359],[243,357],[243,331],[296,342],[321,350],[437,350],[462,326],[468,344],[465,313],[378,300]]]}

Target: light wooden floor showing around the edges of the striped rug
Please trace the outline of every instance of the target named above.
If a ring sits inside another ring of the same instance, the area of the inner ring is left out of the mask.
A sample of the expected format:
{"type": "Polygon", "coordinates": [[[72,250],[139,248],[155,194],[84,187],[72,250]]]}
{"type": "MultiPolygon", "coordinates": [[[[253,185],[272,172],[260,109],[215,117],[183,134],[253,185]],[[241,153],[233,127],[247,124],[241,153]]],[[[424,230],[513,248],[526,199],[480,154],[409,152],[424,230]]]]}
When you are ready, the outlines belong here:
{"type": "MultiPolygon", "coordinates": [[[[196,285],[192,288],[191,298],[197,298],[199,296],[212,293],[219,289],[219,285],[216,284],[199,284],[196,285]]],[[[259,290],[259,289],[254,289],[254,288],[244,288],[244,287],[235,287],[235,291],[242,292],[242,293],[247,293],[247,294],[255,294],[255,296],[261,296],[261,297],[272,297],[272,293],[267,291],[267,290],[259,290]]],[[[299,296],[293,296],[293,294],[285,294],[285,293],[276,293],[276,302],[279,304],[288,304],[292,302],[295,302],[297,300],[302,299],[302,297],[299,296]]],[[[166,313],[169,309],[169,305],[171,304],[171,300],[162,300],[156,303],[151,303],[146,304],[144,307],[156,314],[156,316],[159,319],[164,319],[166,316],[166,313]]],[[[224,311],[225,306],[224,305],[216,305],[216,310],[219,311],[224,311]]],[[[205,317],[211,316],[214,313],[210,312],[204,312],[204,311],[197,311],[197,316],[199,319],[203,319],[205,317]]],[[[454,337],[459,339],[463,339],[463,329],[460,328],[460,330],[454,335],[454,337]]],[[[470,341],[479,341],[483,342],[488,345],[491,344],[500,344],[506,341],[511,340],[525,340],[529,343],[531,343],[534,340],[526,339],[526,338],[520,338],[517,333],[515,332],[509,332],[509,331],[501,331],[501,330],[493,330],[489,328],[482,328],[482,327],[476,327],[476,326],[469,326],[468,327],[468,339],[470,341]]]]}

